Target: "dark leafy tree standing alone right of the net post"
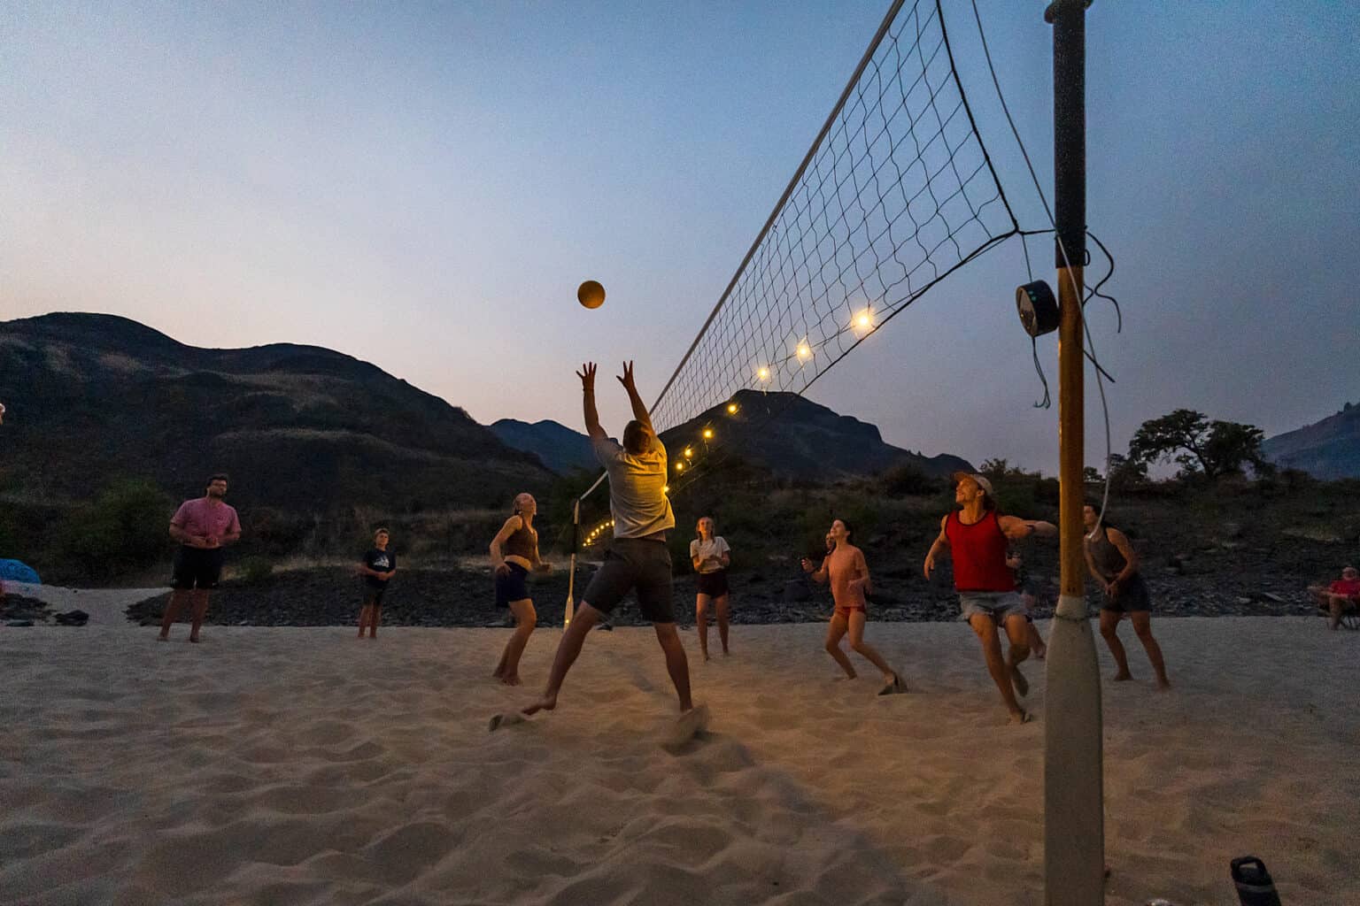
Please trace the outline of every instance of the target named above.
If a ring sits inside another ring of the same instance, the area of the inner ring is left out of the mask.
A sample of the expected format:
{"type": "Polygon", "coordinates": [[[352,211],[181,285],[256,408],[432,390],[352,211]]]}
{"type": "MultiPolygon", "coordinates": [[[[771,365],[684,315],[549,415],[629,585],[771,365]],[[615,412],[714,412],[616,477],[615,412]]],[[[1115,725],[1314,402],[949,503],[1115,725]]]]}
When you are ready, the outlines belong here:
{"type": "Polygon", "coordinates": [[[1261,456],[1265,432],[1254,425],[1235,421],[1209,421],[1193,409],[1175,412],[1142,422],[1129,441],[1129,458],[1151,463],[1172,460],[1189,474],[1202,473],[1206,478],[1236,474],[1251,463],[1268,467],[1261,456]]]}

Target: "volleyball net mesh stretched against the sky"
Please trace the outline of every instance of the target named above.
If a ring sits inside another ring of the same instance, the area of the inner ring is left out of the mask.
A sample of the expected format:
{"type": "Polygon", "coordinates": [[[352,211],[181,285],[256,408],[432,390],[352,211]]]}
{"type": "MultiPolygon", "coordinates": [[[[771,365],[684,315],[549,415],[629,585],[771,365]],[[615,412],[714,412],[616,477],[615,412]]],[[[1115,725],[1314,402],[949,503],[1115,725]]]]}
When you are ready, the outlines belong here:
{"type": "Polygon", "coordinates": [[[938,0],[898,4],[790,190],[653,406],[675,428],[738,390],[801,394],[1019,230],[938,0]]]}

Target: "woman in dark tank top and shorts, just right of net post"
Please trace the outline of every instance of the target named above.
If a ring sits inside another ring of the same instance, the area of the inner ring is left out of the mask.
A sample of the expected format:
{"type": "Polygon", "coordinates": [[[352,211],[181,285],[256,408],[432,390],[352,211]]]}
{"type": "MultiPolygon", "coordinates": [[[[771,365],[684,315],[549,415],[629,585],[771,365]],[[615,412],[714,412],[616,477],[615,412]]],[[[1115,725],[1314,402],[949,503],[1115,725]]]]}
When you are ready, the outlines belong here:
{"type": "Polygon", "coordinates": [[[1100,522],[1095,507],[1087,505],[1083,511],[1083,520],[1087,535],[1083,543],[1087,557],[1087,568],[1096,584],[1104,591],[1104,602],[1100,604],[1100,634],[1110,647],[1118,672],[1117,681],[1133,679],[1129,672],[1129,656],[1119,641],[1119,621],[1127,614],[1133,623],[1133,632],[1142,642],[1152,670],[1157,675],[1157,686],[1167,689],[1171,682],[1167,679],[1167,666],[1161,659],[1161,645],[1152,637],[1152,596],[1148,585],[1138,575],[1138,554],[1129,543],[1129,538],[1114,526],[1100,522]]]}

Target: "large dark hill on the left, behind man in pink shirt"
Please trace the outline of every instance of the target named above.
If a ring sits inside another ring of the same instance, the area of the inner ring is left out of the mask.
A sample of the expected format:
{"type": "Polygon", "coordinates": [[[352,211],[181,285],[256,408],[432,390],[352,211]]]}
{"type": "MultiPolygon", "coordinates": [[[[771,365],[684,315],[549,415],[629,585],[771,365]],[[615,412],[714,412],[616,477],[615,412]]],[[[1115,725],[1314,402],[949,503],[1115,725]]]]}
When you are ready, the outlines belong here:
{"type": "Polygon", "coordinates": [[[503,507],[551,474],[458,407],[329,349],[199,349],[126,318],[0,322],[0,486],[86,499],[116,477],[287,511],[503,507]]]}

